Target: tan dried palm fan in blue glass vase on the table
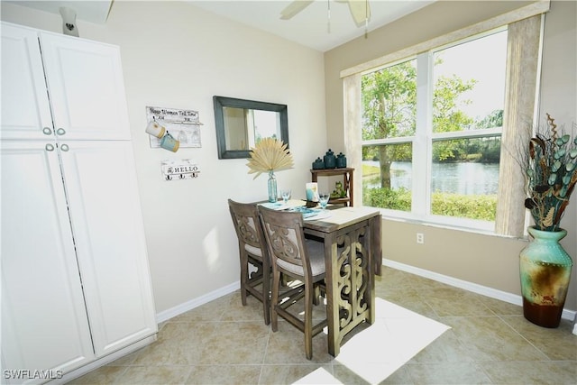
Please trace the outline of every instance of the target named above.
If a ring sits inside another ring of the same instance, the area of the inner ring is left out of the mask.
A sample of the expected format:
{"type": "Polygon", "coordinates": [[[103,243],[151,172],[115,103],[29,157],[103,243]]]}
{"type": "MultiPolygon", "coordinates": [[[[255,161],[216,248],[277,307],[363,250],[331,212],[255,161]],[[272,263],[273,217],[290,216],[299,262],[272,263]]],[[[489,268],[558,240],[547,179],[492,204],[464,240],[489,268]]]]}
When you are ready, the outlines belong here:
{"type": "Polygon", "coordinates": [[[255,173],[256,179],[261,173],[269,173],[268,190],[269,202],[277,201],[277,179],[274,171],[292,169],[292,155],[287,149],[287,144],[273,138],[264,138],[256,143],[250,152],[251,158],[246,164],[249,174],[255,173]]]}

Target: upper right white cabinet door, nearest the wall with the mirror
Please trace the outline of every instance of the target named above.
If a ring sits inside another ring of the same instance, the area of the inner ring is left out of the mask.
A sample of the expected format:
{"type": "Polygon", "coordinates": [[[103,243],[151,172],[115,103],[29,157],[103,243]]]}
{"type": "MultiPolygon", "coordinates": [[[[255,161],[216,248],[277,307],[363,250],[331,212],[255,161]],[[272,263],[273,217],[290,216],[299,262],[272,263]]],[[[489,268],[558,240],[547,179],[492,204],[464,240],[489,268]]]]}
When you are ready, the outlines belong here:
{"type": "Polygon", "coordinates": [[[61,139],[130,139],[118,47],[49,32],[40,32],[40,38],[61,139]]]}

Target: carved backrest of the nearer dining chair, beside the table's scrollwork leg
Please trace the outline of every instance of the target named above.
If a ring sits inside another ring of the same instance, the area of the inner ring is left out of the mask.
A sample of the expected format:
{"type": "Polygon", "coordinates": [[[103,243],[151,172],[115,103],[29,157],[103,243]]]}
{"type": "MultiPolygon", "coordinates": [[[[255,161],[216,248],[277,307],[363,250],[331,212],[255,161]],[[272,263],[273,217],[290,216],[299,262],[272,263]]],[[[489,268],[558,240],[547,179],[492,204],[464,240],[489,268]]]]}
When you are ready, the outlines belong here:
{"type": "Polygon", "coordinates": [[[276,211],[259,206],[262,230],[269,247],[272,264],[289,272],[303,271],[310,276],[303,215],[299,212],[276,211]]]}

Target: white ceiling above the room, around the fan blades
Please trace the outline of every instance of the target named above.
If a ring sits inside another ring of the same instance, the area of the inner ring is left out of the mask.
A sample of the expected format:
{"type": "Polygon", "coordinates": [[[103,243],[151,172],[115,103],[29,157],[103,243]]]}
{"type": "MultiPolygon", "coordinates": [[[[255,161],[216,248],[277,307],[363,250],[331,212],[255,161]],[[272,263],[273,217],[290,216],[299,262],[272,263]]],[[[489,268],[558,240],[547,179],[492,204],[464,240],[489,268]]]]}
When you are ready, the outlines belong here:
{"type": "MultiPolygon", "coordinates": [[[[185,2],[320,51],[331,50],[365,33],[364,26],[357,27],[353,22],[346,2],[338,0],[315,0],[290,20],[280,20],[280,12],[292,3],[291,1],[185,0],[185,2]]],[[[368,32],[434,2],[435,0],[369,0],[371,19],[368,32]]],[[[68,6],[77,12],[78,20],[105,23],[113,0],[9,1],[9,3],[30,6],[54,14],[59,14],[60,6],[68,6]]]]}

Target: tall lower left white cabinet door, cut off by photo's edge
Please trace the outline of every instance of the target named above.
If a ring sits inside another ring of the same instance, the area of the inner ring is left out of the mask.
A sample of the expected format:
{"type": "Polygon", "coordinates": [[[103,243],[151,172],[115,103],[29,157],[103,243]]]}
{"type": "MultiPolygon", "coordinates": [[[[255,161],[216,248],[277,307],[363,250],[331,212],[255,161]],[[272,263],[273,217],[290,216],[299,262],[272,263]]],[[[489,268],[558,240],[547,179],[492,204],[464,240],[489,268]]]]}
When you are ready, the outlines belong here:
{"type": "Polygon", "coordinates": [[[58,154],[45,145],[2,142],[3,376],[94,359],[58,154]]]}

